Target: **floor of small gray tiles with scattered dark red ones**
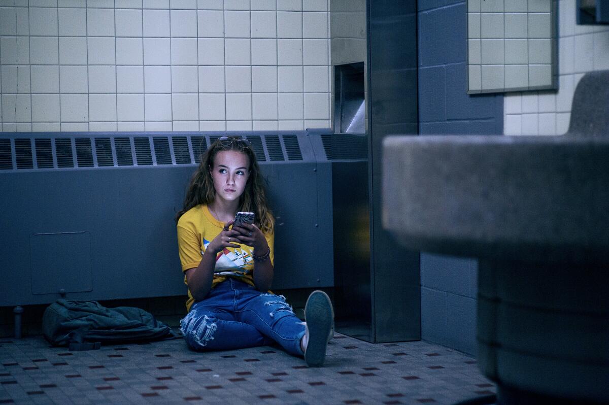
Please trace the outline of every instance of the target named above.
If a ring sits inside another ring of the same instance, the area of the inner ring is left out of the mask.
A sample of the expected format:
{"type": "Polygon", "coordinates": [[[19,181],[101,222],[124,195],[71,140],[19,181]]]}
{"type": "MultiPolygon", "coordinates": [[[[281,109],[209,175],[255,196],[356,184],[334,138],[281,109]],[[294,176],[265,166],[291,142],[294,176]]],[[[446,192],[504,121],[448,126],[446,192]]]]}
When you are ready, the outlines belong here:
{"type": "Polygon", "coordinates": [[[476,361],[428,342],[336,334],[323,368],[278,347],[194,353],[182,339],[69,352],[0,339],[0,404],[452,404],[495,392],[476,361]]]}

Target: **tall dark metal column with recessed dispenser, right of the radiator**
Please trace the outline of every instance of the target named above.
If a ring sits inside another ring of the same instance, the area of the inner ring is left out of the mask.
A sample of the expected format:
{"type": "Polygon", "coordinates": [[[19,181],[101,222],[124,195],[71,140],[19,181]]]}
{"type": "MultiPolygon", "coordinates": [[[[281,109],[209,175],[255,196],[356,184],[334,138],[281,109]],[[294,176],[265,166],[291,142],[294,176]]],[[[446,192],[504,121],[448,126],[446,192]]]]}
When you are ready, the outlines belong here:
{"type": "Polygon", "coordinates": [[[330,18],[336,329],[418,340],[419,253],[381,224],[382,139],[417,135],[416,5],[332,0],[330,18]]]}

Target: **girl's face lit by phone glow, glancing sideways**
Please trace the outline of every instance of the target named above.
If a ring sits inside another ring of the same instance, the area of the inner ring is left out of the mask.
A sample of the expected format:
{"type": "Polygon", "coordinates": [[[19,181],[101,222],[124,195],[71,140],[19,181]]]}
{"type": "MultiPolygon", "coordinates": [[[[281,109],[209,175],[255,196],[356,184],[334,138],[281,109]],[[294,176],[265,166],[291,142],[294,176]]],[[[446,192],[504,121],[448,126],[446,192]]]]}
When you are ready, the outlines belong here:
{"type": "Polygon", "coordinates": [[[214,167],[209,169],[214,180],[216,198],[225,202],[238,201],[250,177],[250,159],[237,150],[216,153],[214,167]]]}

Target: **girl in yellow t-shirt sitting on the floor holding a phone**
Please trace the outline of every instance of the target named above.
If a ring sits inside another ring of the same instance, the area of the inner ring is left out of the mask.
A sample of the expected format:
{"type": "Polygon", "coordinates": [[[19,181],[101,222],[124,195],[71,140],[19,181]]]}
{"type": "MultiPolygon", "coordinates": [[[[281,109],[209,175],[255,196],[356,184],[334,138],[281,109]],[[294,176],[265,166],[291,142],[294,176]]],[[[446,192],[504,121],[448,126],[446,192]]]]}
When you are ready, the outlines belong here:
{"type": "Polygon", "coordinates": [[[288,353],[304,356],[311,367],[323,364],[333,333],[328,295],[309,295],[303,323],[285,297],[269,291],[275,220],[247,139],[222,136],[211,145],[176,220],[189,311],[180,323],[189,348],[229,350],[277,342],[288,353]],[[253,224],[231,227],[239,211],[254,213],[253,224]]]}

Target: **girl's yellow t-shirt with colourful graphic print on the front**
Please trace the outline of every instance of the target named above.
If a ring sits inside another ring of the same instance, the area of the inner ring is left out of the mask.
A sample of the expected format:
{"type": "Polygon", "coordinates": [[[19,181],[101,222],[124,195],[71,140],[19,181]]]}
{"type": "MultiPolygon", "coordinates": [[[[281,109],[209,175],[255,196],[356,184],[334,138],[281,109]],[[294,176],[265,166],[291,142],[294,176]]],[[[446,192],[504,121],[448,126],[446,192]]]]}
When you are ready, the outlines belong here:
{"type": "MultiPolygon", "coordinates": [[[[222,231],[224,224],[213,217],[206,205],[197,205],[180,217],[177,228],[180,261],[182,272],[185,272],[199,266],[207,245],[222,231]]],[[[269,233],[264,236],[269,244],[270,261],[273,263],[275,259],[273,255],[275,235],[269,233]]],[[[239,248],[225,248],[218,253],[211,287],[222,283],[228,277],[236,278],[253,286],[254,259],[252,250],[253,248],[250,246],[241,245],[239,248]]],[[[184,283],[188,286],[186,275],[184,275],[184,283]]],[[[188,301],[186,301],[188,311],[190,311],[193,302],[194,298],[188,290],[188,301]]]]}

